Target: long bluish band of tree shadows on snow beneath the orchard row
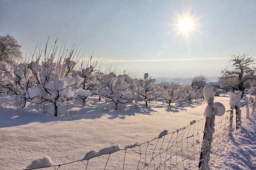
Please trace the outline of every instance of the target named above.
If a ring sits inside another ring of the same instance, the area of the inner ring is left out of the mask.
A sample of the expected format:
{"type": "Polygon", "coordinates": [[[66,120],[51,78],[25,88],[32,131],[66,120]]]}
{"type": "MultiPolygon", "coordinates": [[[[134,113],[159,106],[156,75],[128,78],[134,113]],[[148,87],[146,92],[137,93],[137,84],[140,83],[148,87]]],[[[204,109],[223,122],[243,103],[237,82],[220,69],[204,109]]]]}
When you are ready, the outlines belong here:
{"type": "Polygon", "coordinates": [[[109,116],[108,119],[125,119],[127,116],[134,116],[136,114],[152,115],[157,111],[154,107],[166,108],[166,111],[178,113],[179,111],[186,111],[186,107],[197,107],[203,104],[202,101],[176,104],[174,106],[165,105],[149,105],[145,107],[142,104],[121,106],[120,110],[113,110],[111,104],[96,104],[91,103],[88,106],[76,105],[72,106],[72,111],[66,114],[66,116],[54,117],[53,115],[47,115],[38,113],[37,111],[21,108],[6,108],[0,107],[0,128],[14,127],[19,125],[26,125],[33,122],[39,123],[58,123],[61,121],[73,121],[80,119],[99,119],[102,116],[109,116]]]}

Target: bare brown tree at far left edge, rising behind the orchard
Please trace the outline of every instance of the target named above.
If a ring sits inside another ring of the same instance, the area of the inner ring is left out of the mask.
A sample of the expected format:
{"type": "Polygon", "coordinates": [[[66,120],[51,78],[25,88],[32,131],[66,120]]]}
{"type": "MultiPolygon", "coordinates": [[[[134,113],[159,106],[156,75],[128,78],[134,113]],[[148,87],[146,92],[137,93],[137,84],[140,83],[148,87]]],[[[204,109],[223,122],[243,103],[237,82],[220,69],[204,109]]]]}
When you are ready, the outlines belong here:
{"type": "Polygon", "coordinates": [[[13,60],[22,59],[20,48],[21,45],[11,35],[0,35],[0,61],[10,63],[13,60]]]}

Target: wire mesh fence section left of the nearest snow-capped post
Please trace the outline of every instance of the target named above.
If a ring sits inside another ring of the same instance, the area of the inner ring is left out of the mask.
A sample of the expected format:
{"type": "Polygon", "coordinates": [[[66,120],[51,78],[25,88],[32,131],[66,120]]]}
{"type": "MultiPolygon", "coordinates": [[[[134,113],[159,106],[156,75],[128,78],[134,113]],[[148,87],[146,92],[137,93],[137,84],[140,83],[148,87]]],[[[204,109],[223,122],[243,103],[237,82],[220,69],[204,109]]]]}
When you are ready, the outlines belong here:
{"type": "Polygon", "coordinates": [[[160,135],[145,143],[128,145],[111,154],[49,167],[69,169],[79,166],[88,170],[198,169],[204,122],[205,119],[194,120],[190,125],[172,133],[160,135]]]}

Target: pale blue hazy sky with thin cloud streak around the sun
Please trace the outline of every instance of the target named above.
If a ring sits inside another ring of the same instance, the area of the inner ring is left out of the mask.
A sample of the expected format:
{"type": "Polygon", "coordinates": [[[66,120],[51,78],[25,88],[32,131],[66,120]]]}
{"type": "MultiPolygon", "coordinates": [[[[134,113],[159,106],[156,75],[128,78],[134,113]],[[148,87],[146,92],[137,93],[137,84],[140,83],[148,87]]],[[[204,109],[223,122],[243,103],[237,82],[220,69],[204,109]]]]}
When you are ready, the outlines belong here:
{"type": "Polygon", "coordinates": [[[209,77],[230,55],[256,53],[255,16],[254,0],[0,0],[0,35],[13,36],[23,57],[49,37],[48,50],[56,39],[76,44],[102,70],[118,63],[152,77],[209,77]],[[180,29],[185,18],[189,31],[180,29]]]}

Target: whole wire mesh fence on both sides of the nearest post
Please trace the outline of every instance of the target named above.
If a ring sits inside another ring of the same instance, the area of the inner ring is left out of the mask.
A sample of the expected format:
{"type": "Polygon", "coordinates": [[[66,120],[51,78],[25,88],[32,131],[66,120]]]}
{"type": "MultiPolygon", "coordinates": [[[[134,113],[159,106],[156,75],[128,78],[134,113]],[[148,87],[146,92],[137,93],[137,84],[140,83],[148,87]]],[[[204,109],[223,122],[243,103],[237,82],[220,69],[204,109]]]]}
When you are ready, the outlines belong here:
{"type": "MultiPolygon", "coordinates": [[[[230,98],[232,97],[230,96],[230,98]]],[[[256,106],[255,97],[250,101],[252,102],[250,104],[250,114],[252,115],[256,106]]],[[[206,153],[209,159],[205,166],[202,166],[201,160],[203,160],[202,153],[205,143],[203,136],[207,117],[199,121],[191,121],[190,125],[172,133],[168,133],[165,130],[158,137],[141,144],[127,145],[122,149],[119,145],[113,145],[99,151],[91,150],[80,160],[58,165],[53,165],[50,158],[45,157],[33,161],[27,166],[26,170],[39,169],[38,167],[55,167],[55,170],[76,169],[78,167],[86,170],[206,169],[207,166],[214,164],[217,156],[224,150],[230,140],[232,131],[236,130],[236,114],[232,114],[234,106],[232,104],[230,106],[230,110],[225,111],[223,115],[214,119],[210,150],[206,153]]],[[[249,111],[248,102],[239,110],[244,123],[249,111]]]]}

